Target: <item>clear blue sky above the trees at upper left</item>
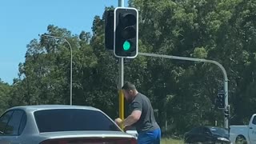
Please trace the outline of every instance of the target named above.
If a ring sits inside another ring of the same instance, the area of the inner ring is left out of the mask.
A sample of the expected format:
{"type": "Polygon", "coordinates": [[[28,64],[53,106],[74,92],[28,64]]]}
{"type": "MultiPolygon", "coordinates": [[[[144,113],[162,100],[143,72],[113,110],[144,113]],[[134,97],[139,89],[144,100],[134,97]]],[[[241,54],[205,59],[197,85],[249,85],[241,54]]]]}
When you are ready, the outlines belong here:
{"type": "MultiPolygon", "coordinates": [[[[128,0],[125,0],[125,6],[128,0]]],[[[26,45],[52,24],[80,34],[91,31],[94,16],[102,17],[105,6],[118,0],[1,0],[0,78],[12,84],[18,64],[25,61],[26,45]]]]}

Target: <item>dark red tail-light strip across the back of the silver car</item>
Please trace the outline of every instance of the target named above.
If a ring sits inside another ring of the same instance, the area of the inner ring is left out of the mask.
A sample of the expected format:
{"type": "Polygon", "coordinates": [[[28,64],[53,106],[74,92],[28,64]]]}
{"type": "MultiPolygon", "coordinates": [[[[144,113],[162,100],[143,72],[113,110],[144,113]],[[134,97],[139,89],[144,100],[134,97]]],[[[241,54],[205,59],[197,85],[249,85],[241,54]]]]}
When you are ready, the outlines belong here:
{"type": "Polygon", "coordinates": [[[40,144],[137,144],[135,138],[62,138],[48,139],[40,144]]]}

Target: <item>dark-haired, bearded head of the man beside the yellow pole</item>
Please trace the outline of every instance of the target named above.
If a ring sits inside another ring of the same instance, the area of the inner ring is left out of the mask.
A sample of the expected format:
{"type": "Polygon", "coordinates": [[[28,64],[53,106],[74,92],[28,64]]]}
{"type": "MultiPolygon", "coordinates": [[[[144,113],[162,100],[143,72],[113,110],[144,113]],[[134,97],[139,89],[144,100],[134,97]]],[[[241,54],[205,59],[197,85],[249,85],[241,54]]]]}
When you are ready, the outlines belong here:
{"type": "Polygon", "coordinates": [[[122,86],[122,93],[124,94],[126,101],[132,102],[135,95],[138,94],[138,91],[136,90],[136,87],[134,86],[134,84],[130,82],[126,82],[122,86]]]}

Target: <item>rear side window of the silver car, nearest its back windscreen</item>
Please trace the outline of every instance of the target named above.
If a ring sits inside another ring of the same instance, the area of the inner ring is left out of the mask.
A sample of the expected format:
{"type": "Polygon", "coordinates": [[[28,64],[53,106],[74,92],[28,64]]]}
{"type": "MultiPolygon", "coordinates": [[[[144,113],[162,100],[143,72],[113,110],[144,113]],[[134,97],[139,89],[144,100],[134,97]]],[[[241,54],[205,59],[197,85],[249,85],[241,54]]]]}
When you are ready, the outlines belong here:
{"type": "Polygon", "coordinates": [[[18,128],[20,125],[20,122],[22,120],[22,114],[24,112],[22,110],[14,110],[14,113],[12,114],[10,121],[8,122],[4,133],[8,135],[18,135],[18,128]]]}

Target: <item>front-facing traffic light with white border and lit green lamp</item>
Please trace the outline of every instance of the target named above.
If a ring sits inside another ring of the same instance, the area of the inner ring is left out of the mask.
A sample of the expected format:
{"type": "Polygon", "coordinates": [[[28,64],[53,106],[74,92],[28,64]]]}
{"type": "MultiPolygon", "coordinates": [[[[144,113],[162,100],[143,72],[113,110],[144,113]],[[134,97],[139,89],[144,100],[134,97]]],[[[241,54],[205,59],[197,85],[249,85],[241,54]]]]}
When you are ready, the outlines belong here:
{"type": "Polygon", "coordinates": [[[138,10],[134,8],[114,9],[114,55],[118,58],[138,55],[138,10]]]}

